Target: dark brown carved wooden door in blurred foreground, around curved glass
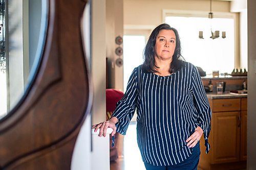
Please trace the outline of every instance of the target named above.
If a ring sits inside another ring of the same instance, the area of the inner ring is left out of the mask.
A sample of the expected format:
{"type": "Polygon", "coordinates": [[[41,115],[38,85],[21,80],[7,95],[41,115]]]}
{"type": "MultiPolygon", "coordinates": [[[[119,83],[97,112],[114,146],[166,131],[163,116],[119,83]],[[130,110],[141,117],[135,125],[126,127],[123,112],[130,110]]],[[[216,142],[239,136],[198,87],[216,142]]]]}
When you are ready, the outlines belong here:
{"type": "Polygon", "coordinates": [[[49,0],[46,43],[35,79],[0,120],[0,169],[70,169],[91,108],[80,29],[86,3],[49,0]]]}

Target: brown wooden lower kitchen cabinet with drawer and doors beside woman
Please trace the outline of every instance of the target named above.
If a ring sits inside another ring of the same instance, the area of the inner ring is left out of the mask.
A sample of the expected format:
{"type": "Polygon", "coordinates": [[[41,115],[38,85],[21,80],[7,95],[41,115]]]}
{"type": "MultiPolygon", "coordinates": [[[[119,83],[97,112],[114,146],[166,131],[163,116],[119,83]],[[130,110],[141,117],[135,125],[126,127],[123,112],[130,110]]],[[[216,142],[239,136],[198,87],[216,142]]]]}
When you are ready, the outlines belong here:
{"type": "Polygon", "coordinates": [[[239,169],[246,167],[247,98],[209,99],[212,109],[210,152],[205,154],[200,140],[199,169],[239,169]]]}

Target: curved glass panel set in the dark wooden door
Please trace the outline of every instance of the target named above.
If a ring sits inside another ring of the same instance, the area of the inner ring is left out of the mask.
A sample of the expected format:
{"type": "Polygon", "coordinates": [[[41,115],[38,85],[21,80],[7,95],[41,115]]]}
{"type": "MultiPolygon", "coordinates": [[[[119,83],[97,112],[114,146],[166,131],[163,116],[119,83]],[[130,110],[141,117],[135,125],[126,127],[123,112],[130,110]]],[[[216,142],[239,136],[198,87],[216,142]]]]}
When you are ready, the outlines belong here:
{"type": "Polygon", "coordinates": [[[28,92],[41,59],[48,1],[0,0],[0,122],[28,92]]]}

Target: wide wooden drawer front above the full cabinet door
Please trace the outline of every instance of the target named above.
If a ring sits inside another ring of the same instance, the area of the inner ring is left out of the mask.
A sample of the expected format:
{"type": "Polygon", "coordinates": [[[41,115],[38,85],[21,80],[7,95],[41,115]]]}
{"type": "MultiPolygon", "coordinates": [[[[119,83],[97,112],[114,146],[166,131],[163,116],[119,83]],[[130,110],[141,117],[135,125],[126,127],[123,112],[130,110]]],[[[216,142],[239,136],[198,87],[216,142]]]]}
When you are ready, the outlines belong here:
{"type": "Polygon", "coordinates": [[[240,110],[240,98],[239,99],[215,99],[212,101],[212,111],[238,111],[240,110]]]}

